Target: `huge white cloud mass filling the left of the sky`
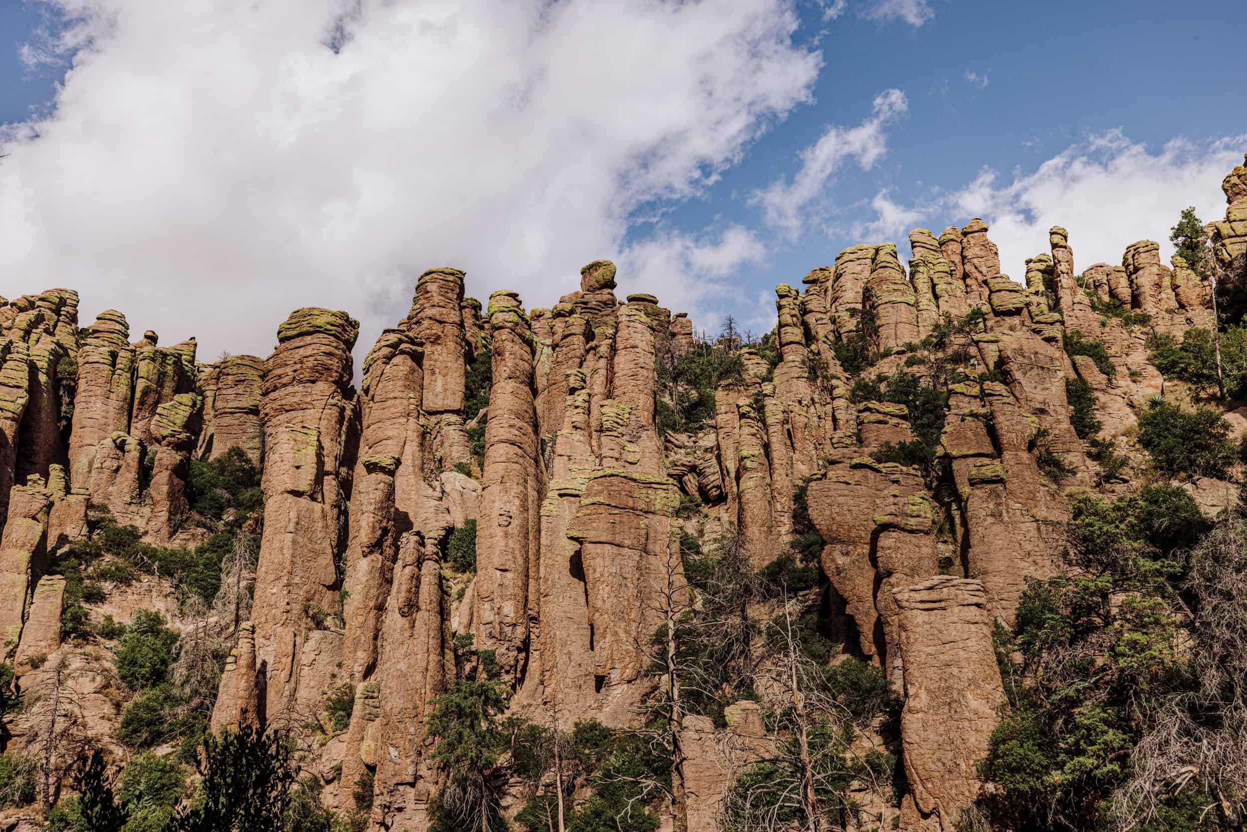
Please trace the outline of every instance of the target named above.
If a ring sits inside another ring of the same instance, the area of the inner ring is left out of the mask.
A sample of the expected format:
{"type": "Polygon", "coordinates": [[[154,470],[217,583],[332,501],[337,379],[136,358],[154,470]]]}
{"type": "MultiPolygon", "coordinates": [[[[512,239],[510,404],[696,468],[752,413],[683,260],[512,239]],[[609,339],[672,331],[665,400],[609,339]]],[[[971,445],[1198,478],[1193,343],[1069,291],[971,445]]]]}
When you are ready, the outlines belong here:
{"type": "Polygon", "coordinates": [[[359,354],[441,264],[549,306],[615,254],[621,294],[703,301],[681,284],[761,244],[628,246],[631,215],[700,193],[821,67],[789,0],[44,1],[72,25],[31,60],[72,66],[7,130],[6,291],[79,288],[85,322],[209,359],[299,306],[359,317],[359,354]]]}

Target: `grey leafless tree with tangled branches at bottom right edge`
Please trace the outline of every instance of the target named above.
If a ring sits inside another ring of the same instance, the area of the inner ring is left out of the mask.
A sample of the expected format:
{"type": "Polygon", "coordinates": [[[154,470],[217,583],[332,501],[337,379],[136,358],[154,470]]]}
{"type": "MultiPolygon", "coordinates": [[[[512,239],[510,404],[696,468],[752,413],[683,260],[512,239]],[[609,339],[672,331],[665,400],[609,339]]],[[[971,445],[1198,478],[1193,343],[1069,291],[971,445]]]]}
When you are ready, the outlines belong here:
{"type": "Polygon", "coordinates": [[[1220,524],[1191,553],[1185,590],[1192,684],[1147,710],[1134,775],[1114,796],[1117,832],[1197,791],[1221,828],[1247,823],[1247,518],[1220,524]]]}

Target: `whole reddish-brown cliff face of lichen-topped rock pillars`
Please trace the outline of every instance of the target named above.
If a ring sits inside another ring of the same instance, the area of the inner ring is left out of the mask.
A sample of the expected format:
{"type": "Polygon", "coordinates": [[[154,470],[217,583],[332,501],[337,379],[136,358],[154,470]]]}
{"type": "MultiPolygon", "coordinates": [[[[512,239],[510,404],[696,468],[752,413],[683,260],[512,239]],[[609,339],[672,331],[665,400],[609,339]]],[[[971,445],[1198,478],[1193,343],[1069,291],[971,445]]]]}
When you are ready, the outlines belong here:
{"type": "MultiPolygon", "coordinates": [[[[1215,223],[1225,262],[1247,239],[1243,170],[1215,223]]],[[[299,725],[349,684],[349,728],[320,751],[320,768],[340,772],[325,801],[345,808],[370,775],[369,828],[423,830],[443,773],[421,723],[461,672],[456,642],[494,651],[514,713],[635,725],[681,536],[734,535],[763,568],[812,525],[827,625],[905,696],[902,828],[950,832],[979,793],[975,761],[1003,700],[994,624],[1013,620],[1028,576],[1062,568],[1072,494],[1132,488],[1100,475],[1069,384],[1094,390],[1102,437],[1122,437],[1162,389],[1148,336],[1212,326],[1208,287],[1180,258],[1163,266],[1155,242],[1079,272],[1054,227],[1016,283],[988,235],[980,220],[915,230],[908,268],[894,243],[848,248],[803,291],[777,287],[774,333],[743,347],[731,333],[700,342],[651,296],[621,302],[606,261],[530,311],[514,292],[483,309],[461,272],[438,268],[369,351],[358,390],[345,312],[297,309],[267,359],[196,364],[193,339],[131,343],[118,312],[79,331],[67,289],[6,302],[9,660],[25,675],[61,649],[65,579],[49,559],[87,535],[89,504],[150,543],[198,543],[188,465],[238,447],[262,464],[262,539],[212,725],[299,725]],[[1112,303],[1136,317],[1105,314],[1112,303]],[[1086,337],[1107,365],[1069,348],[1086,337]],[[695,382],[672,368],[716,349],[737,369],[703,415],[678,415],[695,382]],[[476,414],[480,368],[491,380],[476,414]],[[934,434],[895,394],[903,377],[946,395],[934,434]],[[898,453],[915,445],[925,463],[898,453]],[[463,575],[446,541],[469,520],[476,563],[463,575]]],[[[713,828],[727,780],[707,758],[710,721],[690,720],[690,768],[710,783],[690,823],[713,828]]]]}

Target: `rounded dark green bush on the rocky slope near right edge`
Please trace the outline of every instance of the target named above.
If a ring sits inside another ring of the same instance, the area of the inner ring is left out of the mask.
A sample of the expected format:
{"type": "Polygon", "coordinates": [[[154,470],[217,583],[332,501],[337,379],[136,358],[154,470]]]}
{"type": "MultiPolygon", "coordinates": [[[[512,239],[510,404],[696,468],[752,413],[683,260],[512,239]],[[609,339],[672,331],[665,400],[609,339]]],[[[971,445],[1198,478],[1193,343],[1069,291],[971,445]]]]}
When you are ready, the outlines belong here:
{"type": "Polygon", "coordinates": [[[1223,479],[1238,457],[1230,439],[1230,423],[1216,410],[1183,410],[1160,398],[1139,414],[1139,444],[1170,476],[1223,479]]]}

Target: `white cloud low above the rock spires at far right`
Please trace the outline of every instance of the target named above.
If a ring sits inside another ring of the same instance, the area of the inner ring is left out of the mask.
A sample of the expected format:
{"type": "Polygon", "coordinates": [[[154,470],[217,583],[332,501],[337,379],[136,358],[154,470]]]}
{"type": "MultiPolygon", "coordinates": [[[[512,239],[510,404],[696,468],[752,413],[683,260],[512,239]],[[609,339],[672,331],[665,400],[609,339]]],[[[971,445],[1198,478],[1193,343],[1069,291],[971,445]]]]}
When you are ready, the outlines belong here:
{"type": "Polygon", "coordinates": [[[1120,263],[1139,239],[1161,243],[1168,259],[1170,227],[1195,206],[1206,222],[1225,216],[1221,180],[1242,158],[1247,135],[1218,141],[1173,140],[1151,152],[1120,130],[1089,137],[1040,165],[1034,173],[983,170],[946,197],[958,221],[983,217],[1000,248],[1001,268],[1021,279],[1024,261],[1049,249],[1047,230],[1070,232],[1075,268],[1120,263]]]}

